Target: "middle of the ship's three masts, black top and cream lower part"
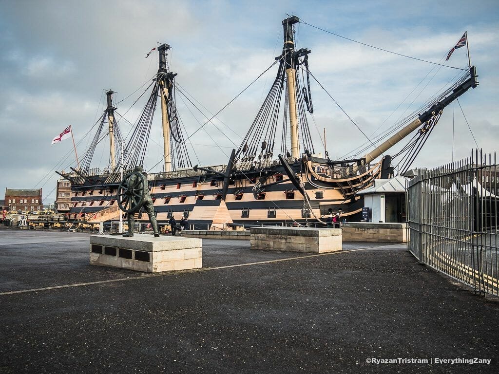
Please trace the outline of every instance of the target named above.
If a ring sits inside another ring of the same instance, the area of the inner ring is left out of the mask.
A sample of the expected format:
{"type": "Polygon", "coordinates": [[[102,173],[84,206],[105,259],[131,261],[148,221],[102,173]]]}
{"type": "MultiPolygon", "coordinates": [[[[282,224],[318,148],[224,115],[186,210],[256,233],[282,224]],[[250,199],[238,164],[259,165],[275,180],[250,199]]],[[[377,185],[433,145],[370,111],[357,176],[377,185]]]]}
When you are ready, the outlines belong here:
{"type": "Polygon", "coordinates": [[[158,79],[161,92],[161,118],[163,122],[163,143],[164,143],[164,171],[172,171],[172,156],[170,151],[170,121],[168,120],[168,100],[170,95],[170,85],[167,79],[168,70],[166,67],[167,50],[170,49],[168,44],[162,44],[158,48],[159,52],[159,70],[158,79]]]}

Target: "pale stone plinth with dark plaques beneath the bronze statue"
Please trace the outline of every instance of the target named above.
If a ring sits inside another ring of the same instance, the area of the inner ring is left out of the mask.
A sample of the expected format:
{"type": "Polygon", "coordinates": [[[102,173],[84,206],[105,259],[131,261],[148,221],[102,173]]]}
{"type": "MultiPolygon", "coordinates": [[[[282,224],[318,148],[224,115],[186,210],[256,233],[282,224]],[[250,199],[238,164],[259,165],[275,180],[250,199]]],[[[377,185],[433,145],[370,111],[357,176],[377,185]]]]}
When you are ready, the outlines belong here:
{"type": "Polygon", "coordinates": [[[90,236],[90,264],[158,273],[203,267],[202,240],[134,234],[90,236]]]}

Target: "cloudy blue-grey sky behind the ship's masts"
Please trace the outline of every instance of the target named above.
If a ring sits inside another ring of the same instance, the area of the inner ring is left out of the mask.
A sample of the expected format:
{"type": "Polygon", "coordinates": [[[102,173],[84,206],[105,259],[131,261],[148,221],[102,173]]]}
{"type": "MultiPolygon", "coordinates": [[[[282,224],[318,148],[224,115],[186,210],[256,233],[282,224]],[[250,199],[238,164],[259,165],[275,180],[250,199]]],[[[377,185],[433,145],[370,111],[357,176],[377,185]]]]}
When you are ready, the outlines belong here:
{"type": "MultiPolygon", "coordinates": [[[[176,82],[206,108],[201,115],[177,99],[192,135],[280,54],[286,14],[302,21],[295,36],[297,48],[312,50],[310,72],[355,122],[312,81],[316,153],[324,129],[329,157],[341,159],[366,142],[362,133],[371,138],[448,87],[468,65],[467,48],[454,52],[450,67],[435,63],[445,62],[465,31],[480,85],[444,111],[413,167],[448,164],[477,146],[498,150],[497,0],[0,0],[0,199],[5,188],[41,187],[44,203],[53,202],[55,171],[69,171],[76,160],[70,139],[50,142],[71,124],[83,157],[108,89],[129,121],[119,124],[128,134],[147,96],[139,95],[157,70],[157,52],[144,57],[158,42],[172,47],[168,61],[176,82]]],[[[275,69],[262,75],[217,116],[217,127],[209,123],[190,138],[193,164],[227,163],[274,76],[275,69]]],[[[157,113],[146,168],[162,158],[160,118],[157,113]]],[[[99,145],[92,166],[108,166],[106,146],[99,145]]]]}

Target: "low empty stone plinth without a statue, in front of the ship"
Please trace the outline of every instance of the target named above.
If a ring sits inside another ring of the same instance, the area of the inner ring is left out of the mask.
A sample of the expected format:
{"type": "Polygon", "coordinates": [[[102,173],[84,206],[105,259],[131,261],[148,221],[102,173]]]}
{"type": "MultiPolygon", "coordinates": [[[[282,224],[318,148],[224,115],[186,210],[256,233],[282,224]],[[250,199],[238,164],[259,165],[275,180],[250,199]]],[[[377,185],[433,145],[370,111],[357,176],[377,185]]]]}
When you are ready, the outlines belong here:
{"type": "Polygon", "coordinates": [[[312,227],[253,227],[251,249],[324,253],[341,251],[341,229],[312,227]]]}

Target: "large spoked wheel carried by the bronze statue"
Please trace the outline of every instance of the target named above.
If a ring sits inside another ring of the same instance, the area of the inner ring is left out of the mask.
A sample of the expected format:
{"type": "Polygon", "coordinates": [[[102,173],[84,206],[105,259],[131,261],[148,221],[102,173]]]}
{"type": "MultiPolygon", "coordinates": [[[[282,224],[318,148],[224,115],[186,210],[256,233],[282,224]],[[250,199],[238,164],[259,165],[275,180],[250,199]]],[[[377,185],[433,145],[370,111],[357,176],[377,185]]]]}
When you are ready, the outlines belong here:
{"type": "Polygon", "coordinates": [[[118,186],[118,206],[125,213],[135,213],[140,209],[146,196],[145,188],[148,188],[144,175],[140,172],[128,173],[118,186]],[[130,185],[132,176],[136,176],[133,186],[130,185]]]}

